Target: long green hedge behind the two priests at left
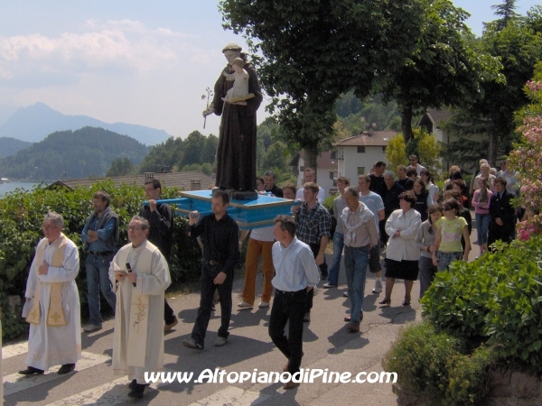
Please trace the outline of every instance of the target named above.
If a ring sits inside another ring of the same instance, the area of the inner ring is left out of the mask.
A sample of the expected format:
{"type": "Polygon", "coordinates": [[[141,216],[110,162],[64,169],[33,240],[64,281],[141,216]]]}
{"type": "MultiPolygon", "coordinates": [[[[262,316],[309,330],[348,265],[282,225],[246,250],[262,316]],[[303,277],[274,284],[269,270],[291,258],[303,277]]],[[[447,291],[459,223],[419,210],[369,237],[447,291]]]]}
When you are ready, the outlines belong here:
{"type": "MultiPolygon", "coordinates": [[[[105,190],[111,196],[111,208],[119,216],[120,238],[118,247],[127,243],[126,226],[131,217],[139,213],[145,199],[144,191],[138,185],[116,187],[110,180],[97,183],[90,188],[74,190],[34,188],[30,192],[15,190],[0,199],[0,308],[4,309],[4,339],[19,337],[27,328],[20,317],[20,309],[10,314],[7,306],[8,295],[23,297],[28,271],[33,260],[35,245],[42,238],[43,216],[53,210],[64,217],[64,234],[79,247],[80,271],[77,277],[81,316],[88,316],[87,280],[84,264],[87,253],[82,251],[80,232],[92,211],[92,195],[105,190]]],[[[176,198],[176,189],[164,188],[164,198],[176,198]]],[[[170,258],[172,288],[179,283],[195,281],[200,274],[201,251],[191,238],[184,234],[187,220],[175,217],[173,227],[173,252],[170,258]]],[[[102,309],[108,306],[102,301],[102,309]]]]}

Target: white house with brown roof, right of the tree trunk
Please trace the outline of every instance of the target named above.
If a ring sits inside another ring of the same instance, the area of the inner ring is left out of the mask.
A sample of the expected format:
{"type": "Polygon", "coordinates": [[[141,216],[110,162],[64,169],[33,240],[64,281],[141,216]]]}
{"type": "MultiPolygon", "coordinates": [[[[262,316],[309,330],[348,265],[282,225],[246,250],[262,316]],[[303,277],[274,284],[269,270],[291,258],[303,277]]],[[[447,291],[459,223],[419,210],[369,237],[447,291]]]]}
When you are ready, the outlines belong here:
{"type": "Polygon", "coordinates": [[[369,174],[376,161],[386,162],[388,142],[396,135],[394,131],[369,131],[336,143],[337,176],[344,176],[352,186],[357,186],[359,175],[369,174]]]}

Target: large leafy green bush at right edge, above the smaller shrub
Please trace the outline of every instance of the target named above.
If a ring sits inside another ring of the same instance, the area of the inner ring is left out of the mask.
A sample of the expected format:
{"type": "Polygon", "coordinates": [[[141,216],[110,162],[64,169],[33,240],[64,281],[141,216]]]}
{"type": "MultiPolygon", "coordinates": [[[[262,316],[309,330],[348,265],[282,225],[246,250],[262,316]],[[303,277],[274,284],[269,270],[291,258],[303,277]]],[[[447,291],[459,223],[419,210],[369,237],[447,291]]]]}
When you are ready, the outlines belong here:
{"type": "Polygon", "coordinates": [[[438,272],[421,301],[439,331],[495,345],[542,372],[542,239],[496,245],[472,263],[438,272]]]}

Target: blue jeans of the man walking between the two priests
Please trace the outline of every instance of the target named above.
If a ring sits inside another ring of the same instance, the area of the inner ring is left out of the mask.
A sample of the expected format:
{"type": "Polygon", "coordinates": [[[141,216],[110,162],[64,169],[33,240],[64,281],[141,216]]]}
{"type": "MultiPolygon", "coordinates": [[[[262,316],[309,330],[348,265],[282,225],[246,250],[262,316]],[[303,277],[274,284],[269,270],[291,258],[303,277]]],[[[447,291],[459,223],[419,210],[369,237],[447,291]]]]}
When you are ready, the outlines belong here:
{"type": "Polygon", "coordinates": [[[109,280],[109,263],[113,259],[110,255],[89,254],[85,261],[87,270],[87,299],[89,300],[90,324],[101,326],[102,318],[99,313],[99,291],[106,298],[111,309],[115,311],[117,296],[112,291],[112,284],[109,280]]]}

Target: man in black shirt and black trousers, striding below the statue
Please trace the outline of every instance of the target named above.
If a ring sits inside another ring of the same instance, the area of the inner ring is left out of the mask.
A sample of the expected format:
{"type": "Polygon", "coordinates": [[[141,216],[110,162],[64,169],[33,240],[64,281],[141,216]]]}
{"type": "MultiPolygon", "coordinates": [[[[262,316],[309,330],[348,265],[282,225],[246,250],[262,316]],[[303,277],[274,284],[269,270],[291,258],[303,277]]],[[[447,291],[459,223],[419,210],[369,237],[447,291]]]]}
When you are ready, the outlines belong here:
{"type": "Polygon", "coordinates": [[[228,193],[217,189],[212,194],[212,214],[202,217],[200,220],[198,211],[190,213],[188,235],[192,238],[201,236],[203,261],[201,264],[201,299],[198,318],[192,328],[192,338],[182,341],[182,345],[188,348],[203,349],[205,333],[209,326],[212,297],[217,289],[220,294],[221,324],[214,345],[224,346],[229,336],[233,271],[238,264],[240,254],[239,229],[235,220],[229,217],[226,212],[228,205],[228,193]]]}

